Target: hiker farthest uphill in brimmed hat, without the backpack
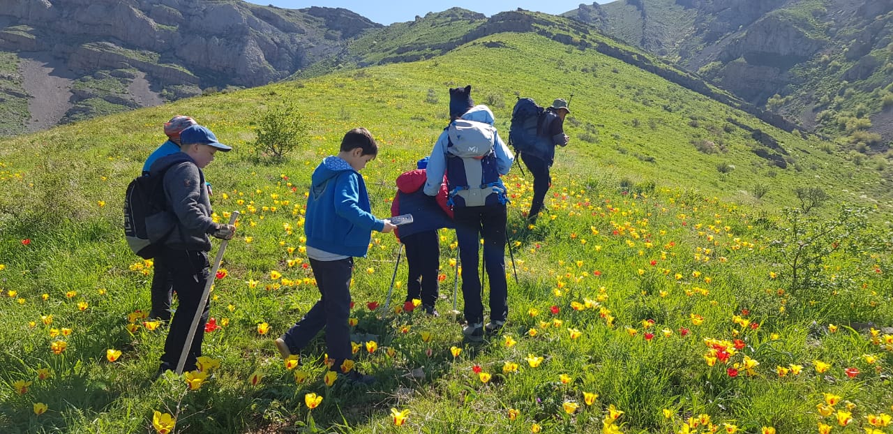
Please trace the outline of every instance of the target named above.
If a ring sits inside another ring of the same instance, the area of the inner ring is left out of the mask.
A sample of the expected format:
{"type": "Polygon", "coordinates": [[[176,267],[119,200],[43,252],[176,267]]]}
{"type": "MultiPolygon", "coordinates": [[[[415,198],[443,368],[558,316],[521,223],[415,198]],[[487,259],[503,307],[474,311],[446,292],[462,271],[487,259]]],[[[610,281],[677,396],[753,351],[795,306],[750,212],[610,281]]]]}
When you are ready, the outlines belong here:
{"type": "Polygon", "coordinates": [[[551,107],[546,109],[545,125],[542,127],[542,135],[545,136],[547,145],[540,151],[522,152],[521,160],[527,166],[527,170],[533,175],[533,200],[530,201],[530,211],[527,220],[530,223],[537,221],[539,212],[543,209],[543,200],[552,186],[552,177],[549,168],[555,161],[555,146],[566,146],[568,137],[564,134],[564,117],[571,113],[567,102],[561,98],[555,100],[551,107]]]}

